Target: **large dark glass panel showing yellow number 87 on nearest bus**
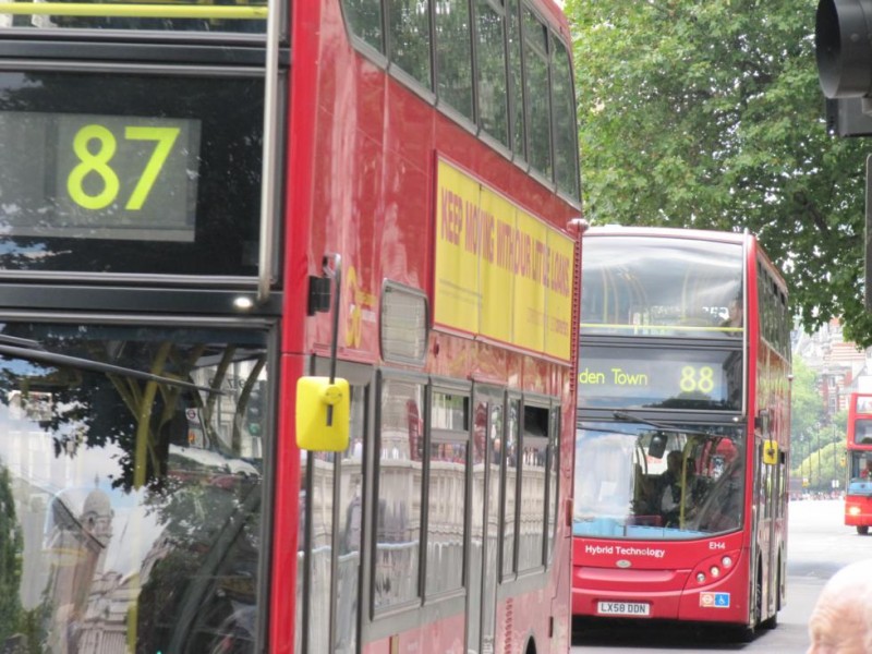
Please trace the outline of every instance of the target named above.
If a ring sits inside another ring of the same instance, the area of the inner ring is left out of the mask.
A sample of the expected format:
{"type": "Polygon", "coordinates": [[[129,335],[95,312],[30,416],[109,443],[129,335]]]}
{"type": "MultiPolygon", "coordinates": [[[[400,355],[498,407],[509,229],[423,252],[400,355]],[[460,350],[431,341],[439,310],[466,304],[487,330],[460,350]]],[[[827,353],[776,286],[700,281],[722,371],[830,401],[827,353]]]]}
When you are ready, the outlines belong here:
{"type": "Polygon", "coordinates": [[[253,276],[263,82],[0,72],[0,267],[253,276]]]}

